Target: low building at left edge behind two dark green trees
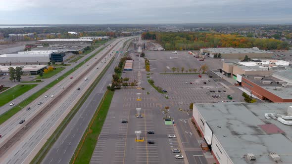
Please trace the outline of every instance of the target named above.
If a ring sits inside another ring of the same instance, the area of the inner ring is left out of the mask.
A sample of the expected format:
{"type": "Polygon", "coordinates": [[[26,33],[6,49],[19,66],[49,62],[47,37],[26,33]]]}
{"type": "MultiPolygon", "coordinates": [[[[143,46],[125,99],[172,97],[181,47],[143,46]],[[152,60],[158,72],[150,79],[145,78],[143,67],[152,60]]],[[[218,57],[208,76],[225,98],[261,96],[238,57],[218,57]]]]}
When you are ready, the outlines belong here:
{"type": "Polygon", "coordinates": [[[16,67],[22,68],[22,75],[38,75],[41,71],[47,68],[46,65],[19,65],[19,66],[0,66],[0,72],[2,75],[9,75],[9,67],[16,67]]]}

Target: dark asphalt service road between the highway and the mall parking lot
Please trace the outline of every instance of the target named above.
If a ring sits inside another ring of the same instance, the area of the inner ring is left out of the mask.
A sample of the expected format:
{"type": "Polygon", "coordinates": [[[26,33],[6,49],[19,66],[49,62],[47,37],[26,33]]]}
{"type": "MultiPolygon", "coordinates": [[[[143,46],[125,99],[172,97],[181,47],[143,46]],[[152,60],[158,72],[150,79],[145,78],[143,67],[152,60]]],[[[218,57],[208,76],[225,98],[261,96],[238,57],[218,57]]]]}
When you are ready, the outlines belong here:
{"type": "MultiPolygon", "coordinates": [[[[127,45],[129,43],[130,41],[128,41],[127,45]]],[[[120,49],[119,51],[126,51],[126,49],[120,49]]],[[[121,57],[122,55],[120,54],[115,57],[113,64],[98,82],[97,86],[76,113],[72,121],[63,130],[42,164],[68,164],[70,162],[85,130],[87,129],[87,125],[91,121],[98,104],[106,91],[106,86],[111,83],[114,67],[121,57]]]]}

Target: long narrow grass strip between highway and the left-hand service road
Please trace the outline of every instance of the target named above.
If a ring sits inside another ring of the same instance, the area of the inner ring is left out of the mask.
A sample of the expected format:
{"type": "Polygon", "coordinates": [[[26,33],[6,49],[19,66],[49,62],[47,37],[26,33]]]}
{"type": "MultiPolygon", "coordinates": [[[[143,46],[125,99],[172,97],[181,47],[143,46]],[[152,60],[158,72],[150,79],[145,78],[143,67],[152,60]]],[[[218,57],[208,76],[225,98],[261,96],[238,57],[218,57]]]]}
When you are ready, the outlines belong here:
{"type": "MultiPolygon", "coordinates": [[[[43,93],[45,93],[47,90],[49,90],[49,88],[51,88],[56,83],[58,83],[61,80],[63,80],[64,78],[66,78],[68,75],[70,75],[71,73],[73,73],[75,70],[77,70],[79,67],[81,67],[88,60],[90,60],[91,58],[93,58],[97,53],[99,53],[100,51],[102,51],[104,48],[105,47],[99,49],[95,54],[93,54],[90,57],[88,57],[87,59],[85,59],[84,62],[79,63],[77,66],[75,66],[74,68],[72,68],[71,70],[69,70],[68,72],[66,72],[64,75],[61,75],[60,77],[58,77],[57,80],[54,80],[54,81],[50,82],[47,86],[43,87],[42,89],[40,89],[39,91],[37,91],[36,93],[34,93],[33,95],[31,95],[30,97],[26,98],[25,100],[23,100],[22,102],[20,102],[19,104],[17,104],[17,106],[21,106],[21,107],[27,106],[28,104],[30,104],[31,102],[33,102],[36,98],[40,97],[43,93]]],[[[7,112],[3,113],[2,115],[0,115],[0,124],[2,124],[5,121],[7,121],[10,117],[12,117],[13,115],[15,115],[20,110],[21,110],[21,108],[19,108],[19,107],[13,107],[9,111],[7,111],[7,112]]]]}

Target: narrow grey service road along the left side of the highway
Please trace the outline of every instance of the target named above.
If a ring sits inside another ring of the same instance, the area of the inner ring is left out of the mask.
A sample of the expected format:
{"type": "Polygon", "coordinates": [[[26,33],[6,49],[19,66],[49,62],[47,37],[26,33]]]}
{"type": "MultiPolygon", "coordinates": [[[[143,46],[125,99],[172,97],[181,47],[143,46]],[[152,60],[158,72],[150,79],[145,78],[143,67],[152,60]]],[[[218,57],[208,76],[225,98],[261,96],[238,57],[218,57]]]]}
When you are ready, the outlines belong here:
{"type": "MultiPolygon", "coordinates": [[[[108,41],[108,42],[105,43],[105,45],[101,45],[100,47],[96,48],[94,51],[92,51],[91,53],[87,54],[86,56],[84,56],[83,58],[78,60],[77,63],[72,63],[71,66],[67,66],[63,71],[59,72],[57,75],[55,75],[55,76],[53,76],[53,77],[51,77],[49,79],[43,79],[44,82],[40,82],[36,87],[34,87],[31,90],[25,92],[24,94],[22,94],[19,97],[15,98],[11,102],[14,102],[15,105],[17,105],[18,103],[22,102],[23,100],[25,100],[26,98],[28,98],[32,94],[36,93],[37,91],[39,91],[43,87],[47,86],[50,82],[53,82],[54,80],[58,79],[63,74],[65,74],[67,71],[71,70],[72,68],[77,66],[79,63],[81,63],[84,60],[86,60],[88,57],[90,57],[91,55],[96,53],[102,47],[109,45],[111,42],[112,41],[108,41]]],[[[2,115],[3,113],[7,112],[8,110],[10,110],[11,108],[14,107],[14,106],[9,106],[9,104],[11,102],[8,102],[7,104],[5,104],[2,107],[0,107],[0,115],[2,115]]]]}

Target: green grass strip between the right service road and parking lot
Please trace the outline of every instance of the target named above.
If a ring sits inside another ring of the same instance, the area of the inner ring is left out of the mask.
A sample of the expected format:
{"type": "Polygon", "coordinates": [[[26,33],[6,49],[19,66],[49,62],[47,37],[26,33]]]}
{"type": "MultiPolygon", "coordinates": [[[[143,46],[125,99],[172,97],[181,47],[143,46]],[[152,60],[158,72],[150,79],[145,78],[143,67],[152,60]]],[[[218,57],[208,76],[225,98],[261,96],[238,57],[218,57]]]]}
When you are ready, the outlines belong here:
{"type": "Polygon", "coordinates": [[[104,94],[103,101],[99,103],[97,111],[91,120],[89,130],[87,130],[83,137],[83,141],[78,144],[75,151],[76,157],[72,157],[70,164],[89,164],[95,146],[97,144],[98,136],[101,132],[103,123],[113,97],[114,91],[107,90],[104,94]]]}

